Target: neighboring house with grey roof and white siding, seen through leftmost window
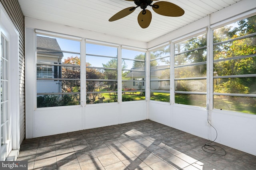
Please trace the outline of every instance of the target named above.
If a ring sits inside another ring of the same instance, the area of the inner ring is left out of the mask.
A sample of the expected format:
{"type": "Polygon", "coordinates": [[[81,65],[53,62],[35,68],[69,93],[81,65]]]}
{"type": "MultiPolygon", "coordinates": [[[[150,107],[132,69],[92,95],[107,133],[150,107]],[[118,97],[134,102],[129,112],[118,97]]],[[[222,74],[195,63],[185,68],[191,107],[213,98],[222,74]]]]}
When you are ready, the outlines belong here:
{"type": "Polygon", "coordinates": [[[63,53],[44,49],[61,50],[56,39],[37,36],[36,91],[37,93],[60,93],[62,88],[59,80],[42,80],[41,78],[61,78],[61,66],[50,64],[61,64],[63,53]]]}

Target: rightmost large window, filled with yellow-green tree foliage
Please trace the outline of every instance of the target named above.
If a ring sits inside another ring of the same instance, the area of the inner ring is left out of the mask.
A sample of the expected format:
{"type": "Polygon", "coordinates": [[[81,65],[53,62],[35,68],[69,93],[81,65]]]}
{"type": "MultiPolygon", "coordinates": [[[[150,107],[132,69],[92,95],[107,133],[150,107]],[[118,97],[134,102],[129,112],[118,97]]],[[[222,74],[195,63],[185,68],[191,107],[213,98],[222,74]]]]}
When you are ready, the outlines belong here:
{"type": "Polygon", "coordinates": [[[256,16],[214,29],[214,108],[256,114],[256,16]]]}

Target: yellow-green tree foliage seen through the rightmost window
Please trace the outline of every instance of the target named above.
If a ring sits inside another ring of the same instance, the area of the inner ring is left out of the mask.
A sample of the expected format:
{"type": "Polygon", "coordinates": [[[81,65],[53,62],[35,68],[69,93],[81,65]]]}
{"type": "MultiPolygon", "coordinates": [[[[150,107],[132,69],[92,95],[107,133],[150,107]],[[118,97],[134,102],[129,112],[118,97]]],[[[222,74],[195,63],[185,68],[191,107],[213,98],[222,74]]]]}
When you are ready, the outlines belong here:
{"type": "MultiPolygon", "coordinates": [[[[221,42],[256,32],[256,16],[227,25],[214,31],[214,41],[221,42]]],[[[214,46],[214,59],[228,59],[256,53],[256,37],[237,39],[214,46]]],[[[255,74],[256,57],[230,59],[214,63],[219,76],[255,74]]],[[[256,91],[255,77],[222,78],[214,84],[215,92],[248,94],[256,91]]]]}

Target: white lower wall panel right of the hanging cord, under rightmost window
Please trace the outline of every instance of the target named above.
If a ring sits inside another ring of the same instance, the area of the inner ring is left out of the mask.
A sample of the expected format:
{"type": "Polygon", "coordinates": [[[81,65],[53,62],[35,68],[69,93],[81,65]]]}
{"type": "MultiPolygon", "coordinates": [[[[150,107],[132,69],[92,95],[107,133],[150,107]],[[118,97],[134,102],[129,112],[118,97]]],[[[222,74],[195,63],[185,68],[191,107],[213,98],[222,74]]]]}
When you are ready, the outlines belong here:
{"type": "Polygon", "coordinates": [[[214,110],[212,125],[218,131],[217,143],[256,155],[256,115],[214,110]]]}

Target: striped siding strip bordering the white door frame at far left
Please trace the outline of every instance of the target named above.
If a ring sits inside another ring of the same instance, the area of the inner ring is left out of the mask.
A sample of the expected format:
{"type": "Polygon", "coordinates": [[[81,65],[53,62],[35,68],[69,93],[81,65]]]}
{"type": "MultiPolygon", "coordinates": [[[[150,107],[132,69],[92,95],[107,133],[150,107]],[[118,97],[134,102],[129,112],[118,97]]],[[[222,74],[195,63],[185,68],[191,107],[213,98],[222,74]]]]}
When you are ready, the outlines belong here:
{"type": "Polygon", "coordinates": [[[0,0],[13,25],[19,32],[19,98],[20,98],[20,143],[25,137],[25,33],[24,16],[17,0],[0,0]]]}

